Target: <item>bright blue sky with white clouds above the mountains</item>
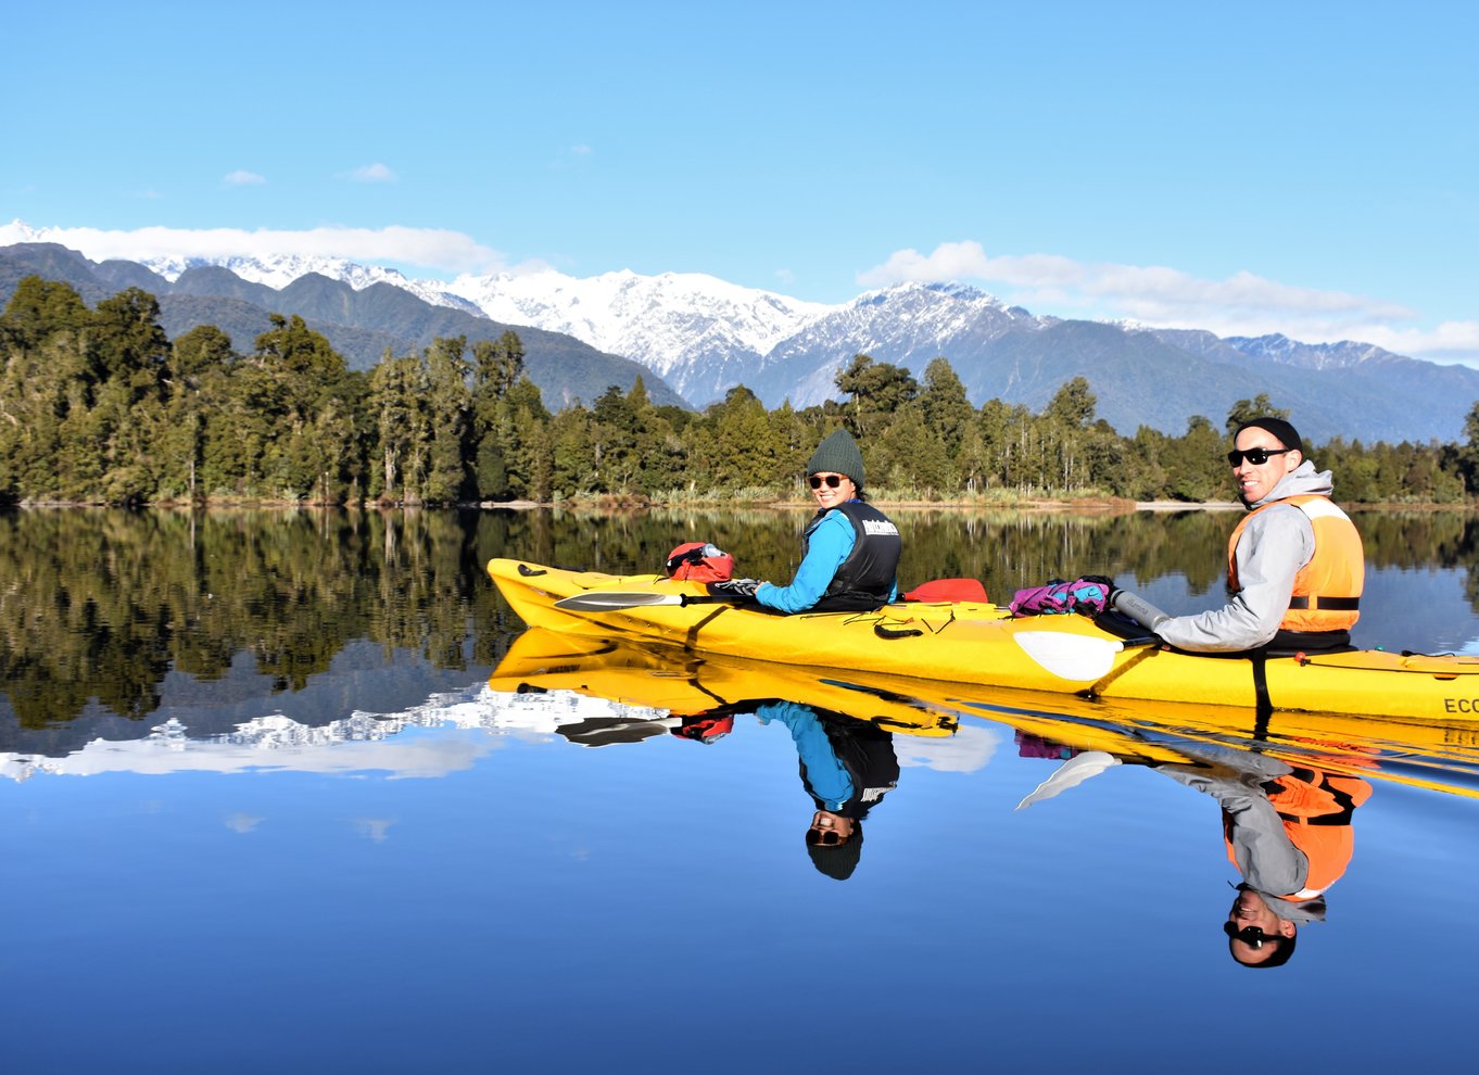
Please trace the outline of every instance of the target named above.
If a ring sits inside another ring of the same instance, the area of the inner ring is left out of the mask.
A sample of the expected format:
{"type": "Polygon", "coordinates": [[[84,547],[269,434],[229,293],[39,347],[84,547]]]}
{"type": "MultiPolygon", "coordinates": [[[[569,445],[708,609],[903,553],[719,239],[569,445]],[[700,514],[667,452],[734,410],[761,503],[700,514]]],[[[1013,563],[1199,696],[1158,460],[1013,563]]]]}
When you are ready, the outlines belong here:
{"type": "Polygon", "coordinates": [[[960,279],[1479,365],[1476,31],[1457,1],[13,4],[0,235],[812,302],[960,279]]]}

